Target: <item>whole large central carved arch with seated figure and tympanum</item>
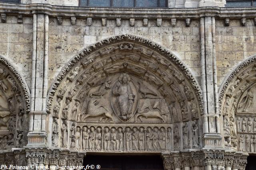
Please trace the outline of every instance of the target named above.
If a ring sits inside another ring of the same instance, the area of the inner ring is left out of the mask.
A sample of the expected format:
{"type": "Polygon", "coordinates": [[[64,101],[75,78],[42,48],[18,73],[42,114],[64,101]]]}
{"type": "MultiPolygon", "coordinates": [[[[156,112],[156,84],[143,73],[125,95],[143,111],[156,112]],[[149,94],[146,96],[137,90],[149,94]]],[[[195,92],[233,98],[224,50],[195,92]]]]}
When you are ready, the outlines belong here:
{"type": "Polygon", "coordinates": [[[200,88],[174,55],[147,39],[118,35],[84,49],[51,88],[52,146],[114,152],[200,147],[200,88]]]}

